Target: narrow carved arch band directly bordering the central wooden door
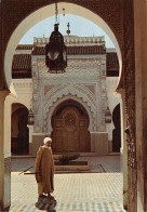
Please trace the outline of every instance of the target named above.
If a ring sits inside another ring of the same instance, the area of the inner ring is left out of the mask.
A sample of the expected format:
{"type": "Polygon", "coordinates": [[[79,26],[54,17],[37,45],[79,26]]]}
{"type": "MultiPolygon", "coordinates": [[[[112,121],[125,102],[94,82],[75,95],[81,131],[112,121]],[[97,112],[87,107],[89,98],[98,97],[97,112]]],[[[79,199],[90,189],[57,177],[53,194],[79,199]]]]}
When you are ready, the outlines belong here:
{"type": "MultiPolygon", "coordinates": [[[[80,95],[79,95],[80,96],[80,95]]],[[[91,110],[91,107],[88,105],[88,103],[82,98],[82,97],[79,97],[77,94],[71,94],[71,93],[68,93],[68,94],[62,94],[61,96],[58,96],[56,98],[55,102],[50,102],[49,103],[49,107],[46,107],[46,109],[44,110],[44,132],[50,134],[52,132],[52,124],[51,124],[51,119],[52,119],[52,116],[53,116],[53,112],[55,110],[55,108],[62,104],[63,102],[67,101],[67,100],[74,100],[78,103],[80,103],[86,110],[88,115],[89,115],[89,118],[90,118],[90,125],[89,125],[89,130],[90,131],[95,131],[95,112],[93,112],[91,110]]]]}

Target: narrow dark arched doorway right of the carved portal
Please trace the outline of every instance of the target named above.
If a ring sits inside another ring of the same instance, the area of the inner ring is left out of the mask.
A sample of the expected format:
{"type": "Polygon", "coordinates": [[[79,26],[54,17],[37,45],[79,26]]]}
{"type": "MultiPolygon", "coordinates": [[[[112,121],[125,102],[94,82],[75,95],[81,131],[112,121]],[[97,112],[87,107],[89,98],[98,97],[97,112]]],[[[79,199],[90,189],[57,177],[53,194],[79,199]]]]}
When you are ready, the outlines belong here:
{"type": "Polygon", "coordinates": [[[112,151],[120,151],[121,147],[121,120],[120,120],[120,104],[112,111],[112,122],[115,129],[112,131],[112,151]]]}

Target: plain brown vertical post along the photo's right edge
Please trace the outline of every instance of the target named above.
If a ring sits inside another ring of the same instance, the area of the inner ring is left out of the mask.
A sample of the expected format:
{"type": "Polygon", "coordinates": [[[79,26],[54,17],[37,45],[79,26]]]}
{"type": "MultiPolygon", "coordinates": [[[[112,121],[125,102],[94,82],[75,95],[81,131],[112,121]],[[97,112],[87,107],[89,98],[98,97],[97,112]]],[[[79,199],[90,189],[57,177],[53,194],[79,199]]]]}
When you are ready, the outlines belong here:
{"type": "Polygon", "coordinates": [[[137,211],[147,211],[147,1],[134,1],[137,211]]]}

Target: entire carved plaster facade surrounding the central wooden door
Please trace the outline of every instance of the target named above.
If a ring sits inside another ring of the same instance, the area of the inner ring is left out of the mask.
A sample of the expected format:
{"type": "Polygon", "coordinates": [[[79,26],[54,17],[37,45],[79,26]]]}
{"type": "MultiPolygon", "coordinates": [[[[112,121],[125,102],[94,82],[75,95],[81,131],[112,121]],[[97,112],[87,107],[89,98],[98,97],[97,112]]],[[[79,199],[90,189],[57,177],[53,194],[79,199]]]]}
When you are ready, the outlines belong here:
{"type": "Polygon", "coordinates": [[[106,55],[96,55],[96,57],[91,58],[82,58],[82,55],[78,55],[69,58],[66,72],[62,75],[48,72],[44,57],[42,56],[34,55],[32,64],[34,97],[35,93],[38,96],[38,100],[36,98],[35,101],[34,98],[36,105],[35,122],[36,125],[40,123],[38,130],[44,125],[42,130],[49,131],[49,125],[51,129],[51,120],[46,118],[49,110],[52,110],[54,104],[62,97],[72,96],[77,100],[82,100],[82,105],[90,108],[94,119],[94,124],[90,125],[92,131],[105,131],[105,110],[107,106],[106,55]],[[40,107],[38,107],[38,102],[40,102],[40,107]],[[43,112],[42,118],[41,111],[43,112]]]}

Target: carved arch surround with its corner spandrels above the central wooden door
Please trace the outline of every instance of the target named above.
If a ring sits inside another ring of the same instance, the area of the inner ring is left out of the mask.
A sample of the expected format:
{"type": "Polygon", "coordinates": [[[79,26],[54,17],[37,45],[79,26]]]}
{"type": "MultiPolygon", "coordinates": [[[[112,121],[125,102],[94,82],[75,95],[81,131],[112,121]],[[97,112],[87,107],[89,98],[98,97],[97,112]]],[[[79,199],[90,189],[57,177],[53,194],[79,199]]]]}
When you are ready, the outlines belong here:
{"type": "MultiPolygon", "coordinates": [[[[91,90],[94,92],[96,85],[90,84],[91,90]],[[93,88],[93,89],[92,89],[93,88]]],[[[58,84],[58,85],[45,85],[44,89],[49,90],[43,100],[43,115],[44,115],[44,131],[49,132],[51,127],[52,112],[55,107],[63,102],[63,100],[76,100],[88,110],[90,117],[89,129],[96,130],[96,96],[89,88],[89,84],[58,84]],[[86,88],[88,85],[88,88],[86,88]]]]}

